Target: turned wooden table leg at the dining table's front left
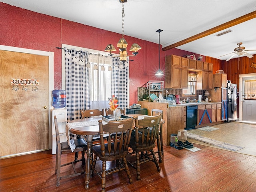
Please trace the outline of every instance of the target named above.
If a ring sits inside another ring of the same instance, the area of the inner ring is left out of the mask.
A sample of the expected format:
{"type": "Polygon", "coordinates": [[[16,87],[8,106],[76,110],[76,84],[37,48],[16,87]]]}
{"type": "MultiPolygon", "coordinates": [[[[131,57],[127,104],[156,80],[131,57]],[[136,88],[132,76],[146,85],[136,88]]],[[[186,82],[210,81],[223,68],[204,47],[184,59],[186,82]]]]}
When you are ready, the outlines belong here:
{"type": "Polygon", "coordinates": [[[92,156],[92,135],[87,135],[87,160],[85,167],[85,189],[89,189],[90,175],[91,175],[91,156],[92,156]]]}

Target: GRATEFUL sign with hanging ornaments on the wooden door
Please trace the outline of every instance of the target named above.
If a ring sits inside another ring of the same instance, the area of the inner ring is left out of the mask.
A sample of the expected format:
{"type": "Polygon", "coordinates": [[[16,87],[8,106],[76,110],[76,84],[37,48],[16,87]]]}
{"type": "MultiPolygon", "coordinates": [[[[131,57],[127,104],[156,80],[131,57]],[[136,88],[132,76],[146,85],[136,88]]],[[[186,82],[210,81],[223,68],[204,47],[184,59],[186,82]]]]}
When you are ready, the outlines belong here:
{"type": "Polygon", "coordinates": [[[19,86],[22,86],[22,90],[24,90],[24,91],[29,90],[28,86],[32,86],[32,91],[37,91],[38,90],[37,86],[39,85],[39,80],[12,78],[11,85],[13,85],[12,90],[14,90],[14,91],[18,91],[20,89],[19,86]]]}

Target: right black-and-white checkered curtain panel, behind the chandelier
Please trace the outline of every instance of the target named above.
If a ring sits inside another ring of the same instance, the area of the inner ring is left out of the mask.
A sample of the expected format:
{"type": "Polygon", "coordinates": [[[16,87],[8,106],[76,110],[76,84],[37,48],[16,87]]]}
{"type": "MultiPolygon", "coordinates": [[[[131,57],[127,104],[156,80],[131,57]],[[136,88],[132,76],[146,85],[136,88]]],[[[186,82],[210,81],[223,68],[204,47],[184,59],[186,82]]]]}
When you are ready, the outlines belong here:
{"type": "Polygon", "coordinates": [[[122,108],[128,106],[129,60],[126,64],[120,62],[119,57],[112,58],[111,94],[118,98],[118,105],[122,108]]]}

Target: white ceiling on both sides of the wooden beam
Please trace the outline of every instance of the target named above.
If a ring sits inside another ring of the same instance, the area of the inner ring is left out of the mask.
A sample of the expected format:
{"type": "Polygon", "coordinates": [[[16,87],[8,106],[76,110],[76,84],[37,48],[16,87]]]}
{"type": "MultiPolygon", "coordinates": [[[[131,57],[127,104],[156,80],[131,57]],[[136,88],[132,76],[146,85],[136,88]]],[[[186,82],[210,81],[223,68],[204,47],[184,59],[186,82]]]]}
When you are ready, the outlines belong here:
{"type": "MultiPolygon", "coordinates": [[[[119,0],[0,2],[122,34],[119,0]]],[[[156,30],[162,29],[160,44],[164,48],[254,11],[256,0],[128,0],[124,3],[124,38],[128,35],[158,43],[156,30]]],[[[256,49],[256,18],[225,30],[228,29],[233,32],[220,37],[215,36],[217,32],[176,48],[213,58],[234,52],[238,42],[243,42],[246,50],[256,49]]],[[[231,55],[219,59],[226,60],[231,55]]]]}

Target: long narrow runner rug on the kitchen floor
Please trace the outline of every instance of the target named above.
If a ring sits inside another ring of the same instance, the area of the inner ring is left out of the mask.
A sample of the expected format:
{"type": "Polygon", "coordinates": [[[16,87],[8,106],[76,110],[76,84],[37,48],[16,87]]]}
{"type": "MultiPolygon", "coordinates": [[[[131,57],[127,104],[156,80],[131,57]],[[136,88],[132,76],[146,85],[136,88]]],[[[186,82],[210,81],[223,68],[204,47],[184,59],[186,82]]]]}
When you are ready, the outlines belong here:
{"type": "Polygon", "coordinates": [[[193,134],[193,133],[190,133],[190,132],[187,132],[187,136],[190,139],[198,140],[198,141],[208,143],[208,144],[211,144],[213,146],[224,148],[224,149],[230,150],[230,151],[238,151],[238,150],[244,148],[244,147],[236,146],[236,145],[233,145],[233,144],[225,143],[225,142],[222,142],[222,141],[214,140],[214,139],[211,139],[211,138],[203,137],[203,136],[200,136],[200,135],[196,135],[196,134],[193,134]]]}

